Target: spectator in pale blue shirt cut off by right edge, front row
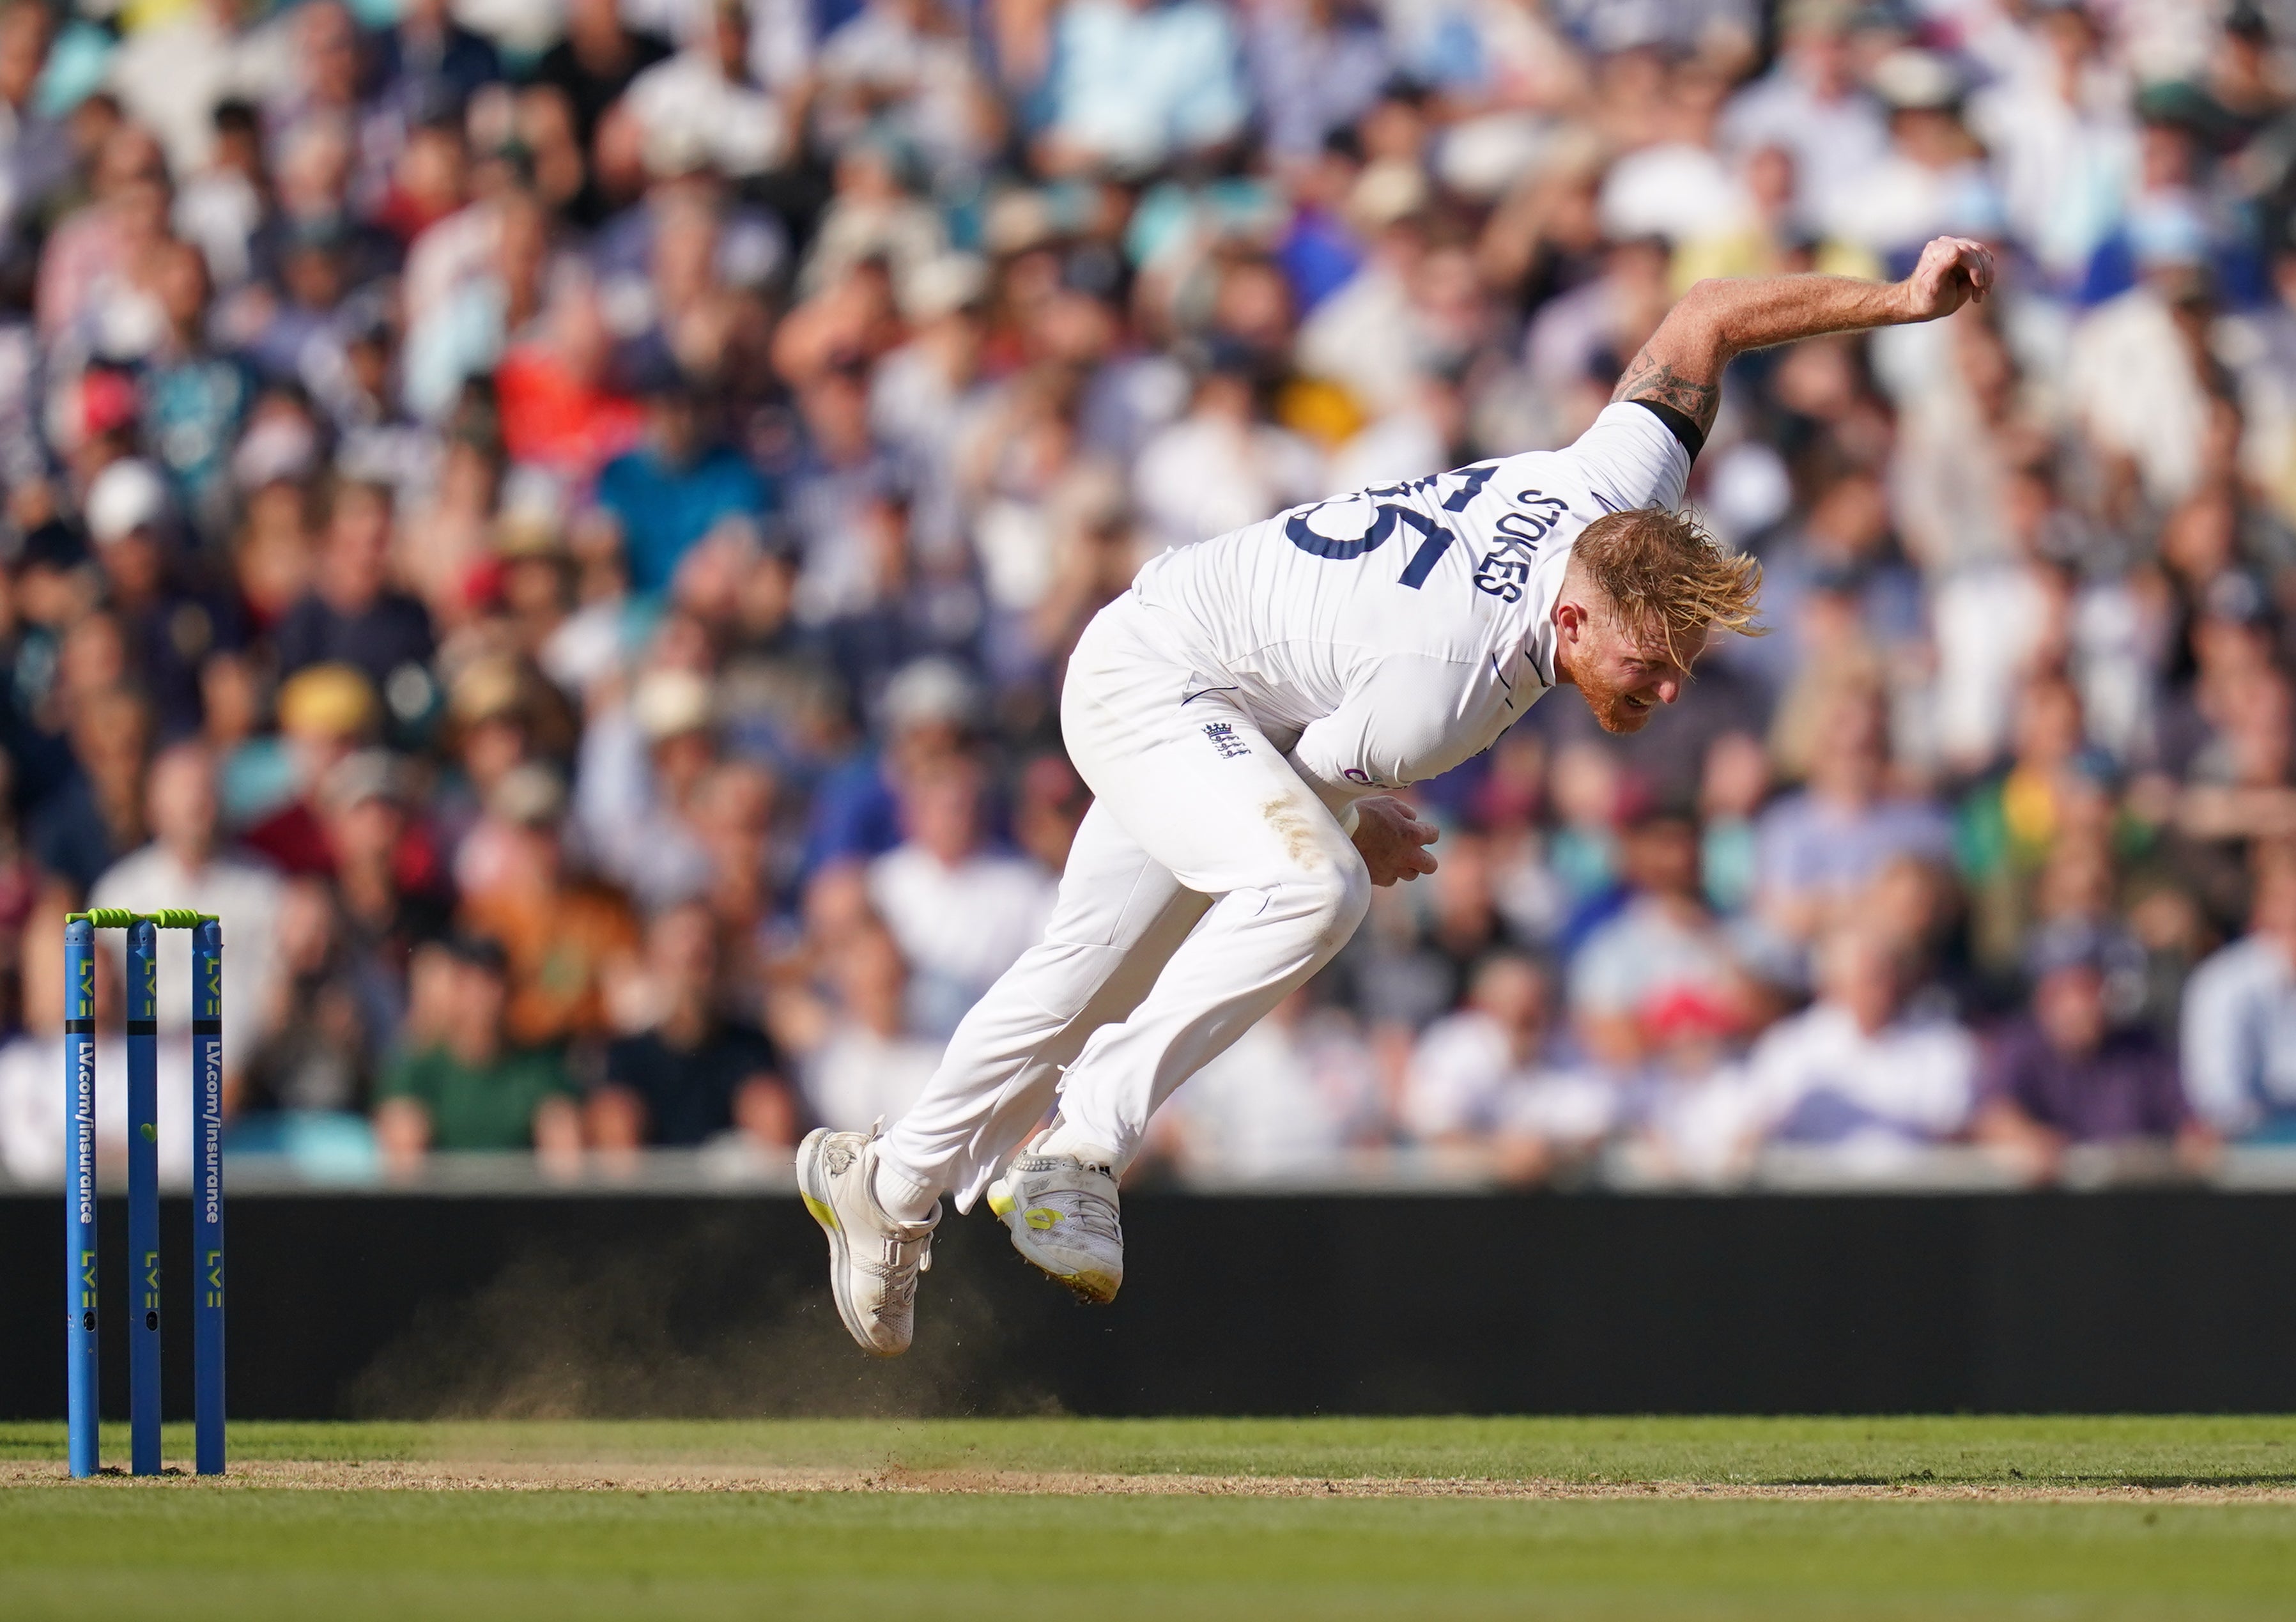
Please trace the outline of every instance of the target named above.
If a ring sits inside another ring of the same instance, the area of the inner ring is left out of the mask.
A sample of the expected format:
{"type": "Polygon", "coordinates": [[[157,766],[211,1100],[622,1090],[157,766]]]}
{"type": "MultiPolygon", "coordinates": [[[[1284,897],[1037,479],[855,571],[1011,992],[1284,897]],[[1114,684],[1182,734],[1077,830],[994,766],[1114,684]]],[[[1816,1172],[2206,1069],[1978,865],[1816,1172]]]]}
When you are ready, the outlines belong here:
{"type": "Polygon", "coordinates": [[[2248,935],[2183,988],[2183,1091],[2234,1142],[2296,1142],[2296,850],[2259,845],[2248,935]]]}

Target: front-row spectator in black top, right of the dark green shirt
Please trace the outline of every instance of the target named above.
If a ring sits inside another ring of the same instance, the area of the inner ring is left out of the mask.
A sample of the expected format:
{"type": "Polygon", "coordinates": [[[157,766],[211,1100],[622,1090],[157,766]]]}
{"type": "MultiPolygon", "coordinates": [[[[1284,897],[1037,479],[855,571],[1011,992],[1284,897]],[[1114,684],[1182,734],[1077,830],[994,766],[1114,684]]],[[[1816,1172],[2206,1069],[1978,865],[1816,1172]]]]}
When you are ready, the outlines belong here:
{"type": "Polygon", "coordinates": [[[716,1009],[716,921],[700,903],[645,930],[652,1018],[606,1045],[606,1080],[583,1103],[599,1149],[698,1149],[739,1133],[758,1149],[797,1142],[797,1105],[762,1032],[716,1009]]]}

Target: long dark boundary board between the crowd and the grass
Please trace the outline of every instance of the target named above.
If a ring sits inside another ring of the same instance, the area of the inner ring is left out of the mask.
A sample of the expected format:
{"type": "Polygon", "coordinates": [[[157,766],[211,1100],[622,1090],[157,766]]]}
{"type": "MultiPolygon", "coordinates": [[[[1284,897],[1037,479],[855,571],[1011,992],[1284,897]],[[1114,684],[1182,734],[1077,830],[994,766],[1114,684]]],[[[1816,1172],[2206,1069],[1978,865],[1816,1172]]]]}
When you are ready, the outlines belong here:
{"type": "MultiPolygon", "coordinates": [[[[188,1413],[163,1206],[168,1415],[188,1413]]],[[[106,1307],[124,1208],[103,1222],[106,1307]]],[[[1125,1202],[1072,1305],[951,1218],[870,1362],[794,1199],[246,1197],[246,1418],[742,1413],[2257,1413],[2296,1408],[2296,1195],[1125,1202]]],[[[0,1197],[0,1411],[60,1415],[62,1202],[0,1197]]],[[[119,1312],[106,1413],[124,1413],[119,1312]]]]}

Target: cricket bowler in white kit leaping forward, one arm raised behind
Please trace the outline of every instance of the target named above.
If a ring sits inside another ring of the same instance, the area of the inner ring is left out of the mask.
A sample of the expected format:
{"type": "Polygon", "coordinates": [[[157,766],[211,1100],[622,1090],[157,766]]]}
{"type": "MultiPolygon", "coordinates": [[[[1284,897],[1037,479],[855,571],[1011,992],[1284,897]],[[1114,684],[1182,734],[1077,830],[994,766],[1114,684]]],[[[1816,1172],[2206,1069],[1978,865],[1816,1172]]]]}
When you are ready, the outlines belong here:
{"type": "Polygon", "coordinates": [[[1348,942],[1373,885],[1433,873],[1391,797],[1554,687],[1639,731],[1759,567],[1676,508],[1745,349],[1949,315],[1991,255],[1942,237],[1896,285],[1699,283],[1566,450],[1334,496],[1166,551],[1068,662],[1095,800],[1045,940],[974,1006],[891,1133],[806,1137],[799,1188],[863,1351],[914,1330],[941,1195],[985,1192],[1086,1300],[1123,1282],[1118,1179],[1148,1117],[1348,942]],[[1047,1112],[1056,1110],[1049,1126],[1047,1112]]]}

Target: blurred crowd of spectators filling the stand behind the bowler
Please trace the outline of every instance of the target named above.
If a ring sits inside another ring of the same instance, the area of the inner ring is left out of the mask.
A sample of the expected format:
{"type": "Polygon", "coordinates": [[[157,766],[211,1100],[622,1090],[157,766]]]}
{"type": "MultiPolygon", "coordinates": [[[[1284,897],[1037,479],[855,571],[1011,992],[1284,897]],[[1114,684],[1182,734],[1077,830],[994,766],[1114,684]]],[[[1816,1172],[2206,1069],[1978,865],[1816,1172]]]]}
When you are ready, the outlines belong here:
{"type": "Polygon", "coordinates": [[[90,903],[223,917],[243,1153],[898,1114],[1045,921],[1063,657],[1146,556],[1568,443],[1692,280],[1936,232],[1993,301],[1733,368],[1692,501],[1770,634],[1414,790],[1442,871],[1157,1158],[2296,1142],[2291,44],[2252,0],[5,0],[0,1167],[60,1174],[90,903]]]}

